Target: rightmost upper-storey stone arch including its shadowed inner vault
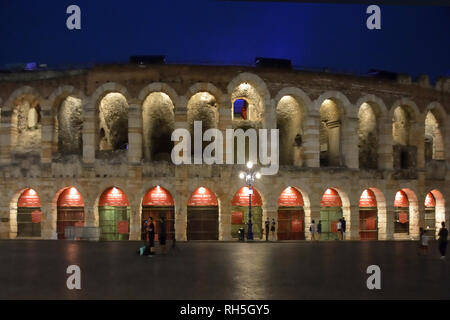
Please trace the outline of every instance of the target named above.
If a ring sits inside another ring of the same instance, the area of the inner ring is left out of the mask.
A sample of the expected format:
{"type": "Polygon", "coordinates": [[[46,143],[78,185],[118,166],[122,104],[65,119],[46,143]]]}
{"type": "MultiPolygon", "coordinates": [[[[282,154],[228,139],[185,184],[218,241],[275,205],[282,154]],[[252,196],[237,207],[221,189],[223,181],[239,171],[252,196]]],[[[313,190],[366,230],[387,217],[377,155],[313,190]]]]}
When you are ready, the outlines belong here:
{"type": "Polygon", "coordinates": [[[425,161],[445,160],[447,114],[442,105],[431,102],[425,109],[425,161]]]}

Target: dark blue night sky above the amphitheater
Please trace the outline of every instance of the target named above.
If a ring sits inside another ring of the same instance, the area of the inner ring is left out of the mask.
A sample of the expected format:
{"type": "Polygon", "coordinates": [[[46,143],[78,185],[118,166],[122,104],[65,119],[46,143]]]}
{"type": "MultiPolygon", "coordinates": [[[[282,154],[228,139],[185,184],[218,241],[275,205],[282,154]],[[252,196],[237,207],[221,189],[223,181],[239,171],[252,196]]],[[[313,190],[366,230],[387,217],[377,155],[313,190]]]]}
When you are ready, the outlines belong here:
{"type": "Polygon", "coordinates": [[[450,72],[450,7],[381,6],[382,30],[371,31],[367,5],[0,1],[0,65],[82,65],[164,54],[168,63],[251,65],[264,56],[355,73],[450,72]],[[66,28],[71,4],[81,7],[81,31],[66,28]]]}

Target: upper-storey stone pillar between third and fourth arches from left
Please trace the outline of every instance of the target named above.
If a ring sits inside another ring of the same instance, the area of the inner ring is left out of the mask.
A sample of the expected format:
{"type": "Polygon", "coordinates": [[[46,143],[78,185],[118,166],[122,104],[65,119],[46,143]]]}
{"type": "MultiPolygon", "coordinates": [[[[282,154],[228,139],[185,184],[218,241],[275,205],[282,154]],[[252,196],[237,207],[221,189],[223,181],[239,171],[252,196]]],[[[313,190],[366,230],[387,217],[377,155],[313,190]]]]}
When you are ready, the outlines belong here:
{"type": "Polygon", "coordinates": [[[128,108],[128,163],[140,164],[142,160],[142,107],[130,104],[128,108]]]}

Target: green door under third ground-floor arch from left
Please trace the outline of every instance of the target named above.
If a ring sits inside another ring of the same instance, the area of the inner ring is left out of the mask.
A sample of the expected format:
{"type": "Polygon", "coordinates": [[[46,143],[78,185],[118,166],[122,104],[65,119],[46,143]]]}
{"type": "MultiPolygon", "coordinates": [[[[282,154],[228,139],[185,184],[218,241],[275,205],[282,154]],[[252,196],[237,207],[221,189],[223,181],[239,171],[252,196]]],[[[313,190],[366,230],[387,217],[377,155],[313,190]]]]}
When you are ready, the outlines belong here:
{"type": "Polygon", "coordinates": [[[99,224],[100,224],[100,240],[128,240],[129,230],[118,229],[119,222],[130,222],[130,210],[128,207],[98,207],[99,224]]]}

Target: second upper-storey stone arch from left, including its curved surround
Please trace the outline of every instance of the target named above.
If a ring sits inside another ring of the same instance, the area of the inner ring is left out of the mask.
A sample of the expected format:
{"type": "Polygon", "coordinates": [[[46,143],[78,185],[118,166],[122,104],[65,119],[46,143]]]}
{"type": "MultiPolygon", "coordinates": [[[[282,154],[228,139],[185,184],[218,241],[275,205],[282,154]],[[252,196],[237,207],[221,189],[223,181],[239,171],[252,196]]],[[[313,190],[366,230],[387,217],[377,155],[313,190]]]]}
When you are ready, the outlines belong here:
{"type": "Polygon", "coordinates": [[[84,93],[73,86],[61,86],[48,101],[53,116],[53,152],[81,155],[84,93]]]}

